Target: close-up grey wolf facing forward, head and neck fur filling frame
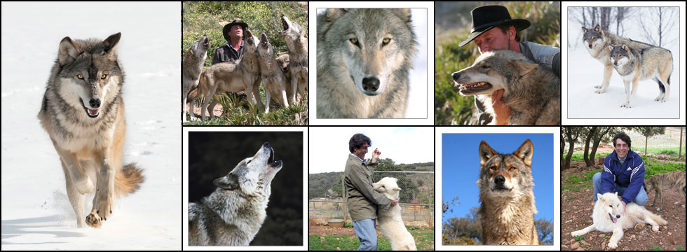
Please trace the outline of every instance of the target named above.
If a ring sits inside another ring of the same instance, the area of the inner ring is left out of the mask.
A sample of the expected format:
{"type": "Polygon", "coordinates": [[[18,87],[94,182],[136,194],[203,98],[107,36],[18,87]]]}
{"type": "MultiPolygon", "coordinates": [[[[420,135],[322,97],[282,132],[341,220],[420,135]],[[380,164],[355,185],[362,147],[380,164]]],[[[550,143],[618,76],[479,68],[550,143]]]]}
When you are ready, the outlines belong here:
{"type": "Polygon", "coordinates": [[[318,118],[403,118],[417,50],[407,8],[318,15],[318,118]]]}

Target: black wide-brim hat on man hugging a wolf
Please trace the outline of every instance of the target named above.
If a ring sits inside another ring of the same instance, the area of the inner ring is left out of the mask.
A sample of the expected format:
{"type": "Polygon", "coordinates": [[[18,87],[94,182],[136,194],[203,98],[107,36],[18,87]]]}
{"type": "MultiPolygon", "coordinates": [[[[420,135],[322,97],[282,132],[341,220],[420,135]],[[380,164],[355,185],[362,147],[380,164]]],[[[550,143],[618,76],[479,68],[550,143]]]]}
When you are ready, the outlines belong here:
{"type": "Polygon", "coordinates": [[[508,8],[504,6],[479,6],[470,11],[472,15],[472,29],[470,29],[470,36],[458,45],[463,46],[470,43],[480,34],[483,34],[489,29],[501,25],[513,25],[515,31],[522,31],[529,27],[530,23],[524,19],[511,19],[508,8]]]}

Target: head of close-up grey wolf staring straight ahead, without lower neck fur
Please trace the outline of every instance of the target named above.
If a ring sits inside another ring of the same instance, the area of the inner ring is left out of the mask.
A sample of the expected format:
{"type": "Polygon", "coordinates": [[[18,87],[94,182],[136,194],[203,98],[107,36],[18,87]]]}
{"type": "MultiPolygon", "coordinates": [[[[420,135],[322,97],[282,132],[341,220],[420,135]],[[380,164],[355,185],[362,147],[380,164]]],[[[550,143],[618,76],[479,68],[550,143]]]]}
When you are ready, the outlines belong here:
{"type": "Polygon", "coordinates": [[[318,53],[345,66],[348,71],[337,74],[351,81],[341,83],[373,97],[396,81],[394,73],[407,76],[417,45],[409,9],[329,8],[320,19],[318,53]]]}

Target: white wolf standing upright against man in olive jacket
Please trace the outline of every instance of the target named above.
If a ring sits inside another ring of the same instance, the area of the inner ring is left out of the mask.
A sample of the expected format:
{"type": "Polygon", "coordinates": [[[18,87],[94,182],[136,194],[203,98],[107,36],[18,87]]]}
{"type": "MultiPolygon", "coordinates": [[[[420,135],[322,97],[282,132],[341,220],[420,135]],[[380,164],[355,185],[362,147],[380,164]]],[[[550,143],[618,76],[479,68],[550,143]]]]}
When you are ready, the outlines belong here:
{"type": "MultiPolygon", "coordinates": [[[[401,190],[397,182],[398,179],[396,178],[386,177],[380,179],[377,183],[372,183],[372,188],[388,197],[389,200],[395,200],[398,199],[399,191],[401,190]]],[[[416,251],[415,239],[410,235],[405,225],[403,225],[401,206],[396,204],[387,210],[384,210],[383,207],[377,207],[377,211],[379,211],[379,228],[384,236],[389,239],[391,250],[416,251]]]]}

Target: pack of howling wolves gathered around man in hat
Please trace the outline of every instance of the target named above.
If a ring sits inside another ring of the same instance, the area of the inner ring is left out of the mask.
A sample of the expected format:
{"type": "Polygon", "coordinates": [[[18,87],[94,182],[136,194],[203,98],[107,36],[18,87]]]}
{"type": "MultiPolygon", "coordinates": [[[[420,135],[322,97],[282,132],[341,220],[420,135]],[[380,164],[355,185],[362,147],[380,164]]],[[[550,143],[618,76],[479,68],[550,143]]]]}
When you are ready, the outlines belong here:
{"type": "Polygon", "coordinates": [[[193,99],[202,96],[201,118],[205,120],[208,110],[211,118],[217,101],[212,97],[220,92],[245,91],[252,104],[265,113],[269,111],[271,99],[277,104],[288,107],[304,99],[308,90],[308,35],[299,24],[285,15],[281,18],[283,30],[278,34],[284,37],[288,55],[276,60],[276,52],[266,36],[258,38],[250,29],[245,29],[244,52],[236,62],[218,63],[203,70],[203,62],[208,52],[207,37],[191,44],[182,62],[182,120],[186,121],[186,99],[191,101],[190,118],[193,120],[193,99]],[[261,54],[262,53],[262,54],[261,54]],[[286,66],[283,64],[286,62],[286,66]],[[259,85],[266,91],[266,104],[263,106],[259,85]],[[300,95],[297,97],[297,94],[300,95]]]}

